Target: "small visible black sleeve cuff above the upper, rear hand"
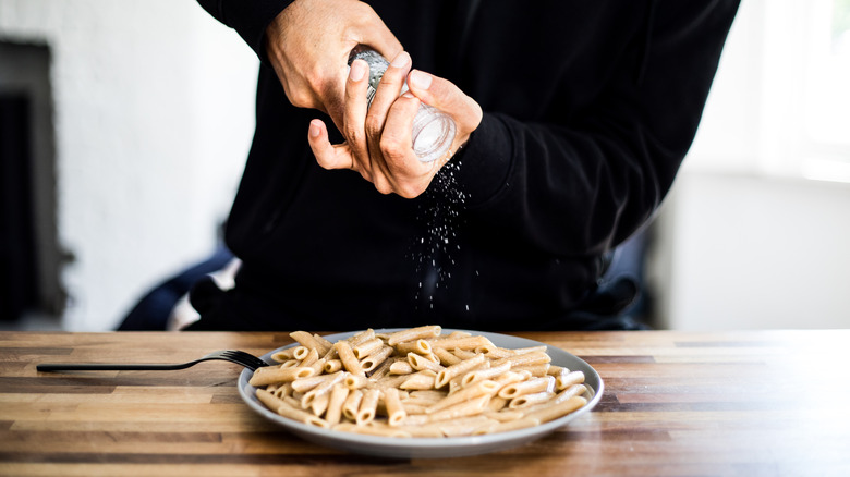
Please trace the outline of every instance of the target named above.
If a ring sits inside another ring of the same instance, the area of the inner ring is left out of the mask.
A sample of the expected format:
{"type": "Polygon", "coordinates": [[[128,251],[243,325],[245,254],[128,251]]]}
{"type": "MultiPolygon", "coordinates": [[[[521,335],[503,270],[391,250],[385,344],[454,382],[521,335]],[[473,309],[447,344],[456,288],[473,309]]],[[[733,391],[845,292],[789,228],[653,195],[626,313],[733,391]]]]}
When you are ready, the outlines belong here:
{"type": "Polygon", "coordinates": [[[266,27],[293,0],[198,0],[201,7],[219,22],[233,28],[268,64],[266,27]]]}

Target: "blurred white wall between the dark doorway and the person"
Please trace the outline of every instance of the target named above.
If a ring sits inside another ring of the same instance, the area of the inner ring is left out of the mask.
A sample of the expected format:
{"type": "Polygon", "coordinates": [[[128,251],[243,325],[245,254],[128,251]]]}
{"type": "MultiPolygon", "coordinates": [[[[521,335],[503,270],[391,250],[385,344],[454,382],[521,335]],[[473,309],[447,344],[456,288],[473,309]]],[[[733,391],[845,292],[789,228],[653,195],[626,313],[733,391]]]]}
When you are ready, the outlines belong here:
{"type": "Polygon", "coordinates": [[[0,0],[0,38],[47,42],[63,327],[112,329],[211,252],[253,133],[257,60],[192,0],[0,0]]]}

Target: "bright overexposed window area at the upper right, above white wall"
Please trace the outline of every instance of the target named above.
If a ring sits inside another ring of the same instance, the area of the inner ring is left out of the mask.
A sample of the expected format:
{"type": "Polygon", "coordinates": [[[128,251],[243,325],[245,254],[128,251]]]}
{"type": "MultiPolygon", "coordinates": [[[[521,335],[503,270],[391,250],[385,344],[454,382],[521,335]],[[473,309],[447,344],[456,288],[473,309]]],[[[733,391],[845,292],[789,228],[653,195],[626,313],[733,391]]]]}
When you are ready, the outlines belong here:
{"type": "Polygon", "coordinates": [[[850,183],[850,0],[741,3],[689,161],[850,183]]]}

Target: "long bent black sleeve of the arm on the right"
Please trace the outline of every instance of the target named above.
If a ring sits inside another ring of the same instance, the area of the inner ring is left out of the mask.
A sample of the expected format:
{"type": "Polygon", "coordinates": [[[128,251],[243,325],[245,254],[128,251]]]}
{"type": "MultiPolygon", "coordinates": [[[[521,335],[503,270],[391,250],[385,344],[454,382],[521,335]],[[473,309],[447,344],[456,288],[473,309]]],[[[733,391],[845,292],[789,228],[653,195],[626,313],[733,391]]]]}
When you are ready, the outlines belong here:
{"type": "Polygon", "coordinates": [[[560,256],[599,255],[628,238],[657,209],[691,146],[737,8],[738,0],[653,2],[634,54],[569,122],[485,113],[459,157],[470,217],[560,256]]]}

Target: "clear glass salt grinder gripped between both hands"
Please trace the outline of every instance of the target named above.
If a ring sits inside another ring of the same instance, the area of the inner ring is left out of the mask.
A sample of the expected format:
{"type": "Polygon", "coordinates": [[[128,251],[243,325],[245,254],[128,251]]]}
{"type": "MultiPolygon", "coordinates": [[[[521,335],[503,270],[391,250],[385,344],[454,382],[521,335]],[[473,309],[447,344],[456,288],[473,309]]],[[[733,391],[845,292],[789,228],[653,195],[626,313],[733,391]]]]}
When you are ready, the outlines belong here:
{"type": "MultiPolygon", "coordinates": [[[[349,57],[349,64],[354,60],[363,60],[369,65],[369,86],[367,93],[368,105],[372,106],[372,99],[378,88],[384,72],[387,71],[389,62],[377,51],[356,48],[349,57]]],[[[405,84],[402,94],[408,90],[405,84]]],[[[454,140],[457,126],[454,121],[440,110],[428,105],[420,105],[416,117],[413,119],[413,131],[411,138],[413,140],[413,152],[423,162],[430,162],[435,159],[446,156],[454,140]]]]}

